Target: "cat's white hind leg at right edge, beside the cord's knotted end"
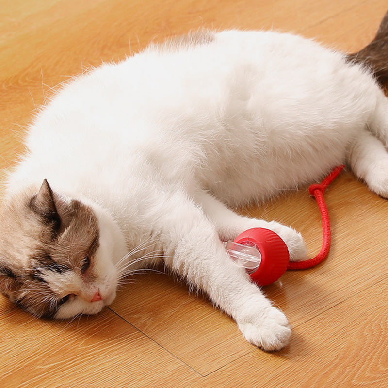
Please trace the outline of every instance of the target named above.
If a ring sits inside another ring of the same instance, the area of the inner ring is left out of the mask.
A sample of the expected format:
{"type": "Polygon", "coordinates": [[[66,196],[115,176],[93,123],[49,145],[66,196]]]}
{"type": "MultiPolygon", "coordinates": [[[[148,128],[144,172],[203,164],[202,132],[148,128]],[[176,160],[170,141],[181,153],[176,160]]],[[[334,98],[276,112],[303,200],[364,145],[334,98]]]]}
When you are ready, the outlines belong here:
{"type": "Polygon", "coordinates": [[[374,193],[388,198],[388,153],[379,139],[362,130],[349,149],[348,162],[374,193]]]}

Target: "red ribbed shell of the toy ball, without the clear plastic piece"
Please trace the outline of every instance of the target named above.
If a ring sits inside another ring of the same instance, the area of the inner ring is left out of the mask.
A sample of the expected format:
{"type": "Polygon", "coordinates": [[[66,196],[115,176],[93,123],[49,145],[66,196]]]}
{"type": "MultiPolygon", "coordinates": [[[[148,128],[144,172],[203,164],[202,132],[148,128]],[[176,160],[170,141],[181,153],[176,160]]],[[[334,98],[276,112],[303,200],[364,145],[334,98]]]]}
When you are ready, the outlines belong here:
{"type": "Polygon", "coordinates": [[[250,274],[259,286],[274,283],[287,270],[290,254],[278,234],[269,229],[253,228],[242,232],[234,242],[254,246],[261,254],[259,268],[250,274]]]}

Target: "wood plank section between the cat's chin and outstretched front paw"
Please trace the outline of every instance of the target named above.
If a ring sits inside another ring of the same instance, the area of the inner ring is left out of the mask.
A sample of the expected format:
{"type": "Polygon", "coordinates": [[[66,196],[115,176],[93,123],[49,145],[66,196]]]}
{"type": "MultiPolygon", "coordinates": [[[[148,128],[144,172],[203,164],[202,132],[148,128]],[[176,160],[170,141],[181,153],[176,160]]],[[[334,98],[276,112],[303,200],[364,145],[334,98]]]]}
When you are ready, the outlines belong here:
{"type": "Polygon", "coordinates": [[[163,348],[206,375],[250,352],[236,323],[184,283],[142,275],[117,295],[111,308],[163,348]]]}

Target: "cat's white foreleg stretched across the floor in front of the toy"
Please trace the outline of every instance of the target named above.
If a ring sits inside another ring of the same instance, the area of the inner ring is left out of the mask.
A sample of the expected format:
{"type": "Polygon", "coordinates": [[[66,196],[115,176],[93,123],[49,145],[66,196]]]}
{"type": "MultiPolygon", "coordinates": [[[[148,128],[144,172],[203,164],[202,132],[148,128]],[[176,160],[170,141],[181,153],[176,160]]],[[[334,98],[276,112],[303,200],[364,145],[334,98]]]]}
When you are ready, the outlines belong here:
{"type": "Polygon", "coordinates": [[[202,209],[177,195],[167,201],[160,225],[165,264],[205,291],[237,322],[250,343],[264,350],[286,346],[291,335],[287,318],[233,263],[202,209]]]}

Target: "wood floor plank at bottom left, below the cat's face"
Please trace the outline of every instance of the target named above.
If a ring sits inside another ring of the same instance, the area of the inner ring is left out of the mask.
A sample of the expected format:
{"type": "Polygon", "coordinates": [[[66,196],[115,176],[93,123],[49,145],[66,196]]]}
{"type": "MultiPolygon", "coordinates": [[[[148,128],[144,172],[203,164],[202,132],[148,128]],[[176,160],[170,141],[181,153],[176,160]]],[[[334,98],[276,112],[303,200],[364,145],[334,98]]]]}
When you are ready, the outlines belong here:
{"type": "Polygon", "coordinates": [[[0,332],[1,387],[175,388],[198,377],[108,309],[72,322],[44,321],[1,298],[0,332]]]}

